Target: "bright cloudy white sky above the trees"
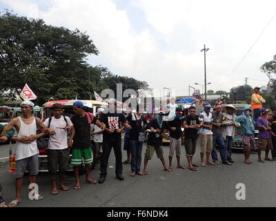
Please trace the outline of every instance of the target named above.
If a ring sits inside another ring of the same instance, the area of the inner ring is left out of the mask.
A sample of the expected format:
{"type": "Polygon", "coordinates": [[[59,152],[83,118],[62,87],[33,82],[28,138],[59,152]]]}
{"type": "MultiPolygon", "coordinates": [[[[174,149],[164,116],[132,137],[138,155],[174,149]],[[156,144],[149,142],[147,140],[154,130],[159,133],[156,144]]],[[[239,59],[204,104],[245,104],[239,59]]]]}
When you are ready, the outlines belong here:
{"type": "Polygon", "coordinates": [[[208,90],[230,90],[245,77],[266,85],[259,67],[276,54],[276,17],[253,46],[276,13],[275,0],[0,0],[4,8],[87,32],[100,51],[88,57],[92,66],[177,95],[204,84],[204,44],[208,90]]]}

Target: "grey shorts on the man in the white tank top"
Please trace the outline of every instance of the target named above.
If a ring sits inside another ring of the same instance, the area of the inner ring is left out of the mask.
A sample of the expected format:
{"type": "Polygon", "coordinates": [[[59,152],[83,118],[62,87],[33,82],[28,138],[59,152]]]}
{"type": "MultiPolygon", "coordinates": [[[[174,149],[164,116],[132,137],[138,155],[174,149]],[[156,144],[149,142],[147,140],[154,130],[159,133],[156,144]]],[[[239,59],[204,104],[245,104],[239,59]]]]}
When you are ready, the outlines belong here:
{"type": "Polygon", "coordinates": [[[15,165],[15,177],[23,177],[24,173],[28,171],[29,175],[37,175],[39,173],[39,155],[33,155],[22,160],[17,160],[15,165]]]}

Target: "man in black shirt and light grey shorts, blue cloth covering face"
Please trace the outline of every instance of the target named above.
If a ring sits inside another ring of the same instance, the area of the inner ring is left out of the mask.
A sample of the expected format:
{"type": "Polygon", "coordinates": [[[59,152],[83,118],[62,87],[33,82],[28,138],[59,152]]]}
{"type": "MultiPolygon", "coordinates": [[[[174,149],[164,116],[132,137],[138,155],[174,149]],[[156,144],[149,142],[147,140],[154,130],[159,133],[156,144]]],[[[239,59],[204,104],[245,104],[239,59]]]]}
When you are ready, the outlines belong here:
{"type": "Polygon", "coordinates": [[[176,108],[175,109],[175,118],[171,121],[168,121],[167,130],[170,131],[170,154],[168,156],[170,165],[169,169],[173,171],[172,168],[172,157],[176,151],[177,155],[177,168],[185,169],[184,166],[180,164],[180,153],[181,153],[181,127],[183,124],[183,117],[182,117],[182,109],[176,108]]]}

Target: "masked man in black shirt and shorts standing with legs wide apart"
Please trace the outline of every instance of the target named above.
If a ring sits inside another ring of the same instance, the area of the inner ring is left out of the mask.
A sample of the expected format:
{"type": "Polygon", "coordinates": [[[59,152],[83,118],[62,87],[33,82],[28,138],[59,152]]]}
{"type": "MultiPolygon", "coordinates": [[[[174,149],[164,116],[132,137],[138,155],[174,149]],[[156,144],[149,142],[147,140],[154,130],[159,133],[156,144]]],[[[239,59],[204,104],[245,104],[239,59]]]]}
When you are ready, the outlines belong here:
{"type": "Polygon", "coordinates": [[[166,162],[163,155],[162,149],[162,137],[164,137],[165,126],[163,122],[163,117],[165,115],[162,111],[157,111],[155,109],[155,113],[157,115],[154,119],[152,119],[148,125],[146,126],[146,130],[148,131],[148,145],[146,148],[145,158],[144,158],[144,175],[148,175],[148,160],[151,160],[153,153],[156,152],[157,157],[161,160],[164,171],[170,172],[170,169],[166,167],[166,162]]]}

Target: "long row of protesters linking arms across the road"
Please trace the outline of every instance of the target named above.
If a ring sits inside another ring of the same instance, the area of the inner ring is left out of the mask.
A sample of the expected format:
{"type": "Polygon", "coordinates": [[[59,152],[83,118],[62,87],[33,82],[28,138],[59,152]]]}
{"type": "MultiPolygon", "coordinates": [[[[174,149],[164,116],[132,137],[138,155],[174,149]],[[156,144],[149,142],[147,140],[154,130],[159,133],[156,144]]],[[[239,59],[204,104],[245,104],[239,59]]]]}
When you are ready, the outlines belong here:
{"type": "MultiPolygon", "coordinates": [[[[181,137],[184,134],[185,155],[188,161],[188,169],[197,171],[200,166],[220,164],[216,148],[219,149],[221,163],[232,165],[232,142],[236,128],[242,128],[242,140],[244,143],[244,163],[252,164],[250,152],[257,150],[258,162],[264,160],[276,160],[276,111],[272,117],[268,117],[268,111],[258,104],[265,102],[258,95],[257,89],[253,97],[253,110],[245,106],[242,115],[237,117],[237,109],[232,104],[225,104],[219,100],[213,107],[204,102],[201,97],[196,97],[192,106],[188,108],[188,115],[184,115],[181,108],[171,99],[168,104],[168,116],[159,108],[155,108],[153,115],[144,115],[144,109],[128,108],[126,113],[117,113],[116,99],[109,100],[108,111],[103,108],[97,110],[97,115],[86,113],[83,103],[77,101],[73,104],[75,115],[71,118],[63,116],[61,104],[52,106],[52,117],[42,122],[34,117],[34,104],[30,101],[21,103],[21,117],[16,117],[7,126],[0,124],[0,142],[12,140],[17,142],[16,158],[16,197],[8,206],[14,207],[21,202],[21,188],[23,175],[29,172],[29,182],[36,182],[39,171],[39,149],[36,140],[49,136],[48,139],[48,171],[52,195],[59,191],[68,191],[64,178],[69,164],[73,166],[75,185],[73,189],[81,189],[79,177],[80,166],[84,164],[86,169],[86,182],[88,184],[102,184],[106,181],[108,160],[112,148],[115,153],[115,175],[117,180],[124,180],[123,163],[130,164],[131,177],[135,175],[148,175],[148,162],[156,152],[164,171],[174,171],[172,166],[173,156],[176,155],[177,169],[186,169],[181,164],[181,137]],[[257,107],[257,108],[256,108],[257,107]],[[213,109],[213,111],[211,111],[213,109]],[[257,111],[255,111],[258,109],[257,111]],[[259,115],[259,116],[258,116],[259,115]],[[257,117],[256,117],[257,116],[257,117]],[[14,129],[17,137],[14,137],[14,129]],[[259,130],[259,139],[255,144],[255,130],[259,130]],[[124,135],[124,150],[127,151],[127,159],[123,162],[121,152],[121,133],[124,135]],[[164,157],[162,140],[166,134],[170,135],[170,150],[168,166],[164,157]],[[196,153],[197,140],[200,138],[200,164],[196,164],[193,157],[196,153]],[[142,148],[147,143],[144,154],[144,169],[142,164],[142,148]],[[70,151],[72,148],[72,151],[70,151]],[[265,151],[262,160],[262,151],[265,151]],[[272,159],[268,157],[271,151],[272,159]],[[72,157],[70,157],[70,152],[72,157]],[[205,158],[205,160],[204,160],[205,158]],[[90,178],[90,167],[100,163],[99,180],[90,178]],[[59,175],[59,186],[56,180],[59,175]]],[[[7,206],[2,195],[0,184],[0,206],[7,206]]],[[[42,200],[42,195],[34,195],[35,200],[42,200]]]]}

